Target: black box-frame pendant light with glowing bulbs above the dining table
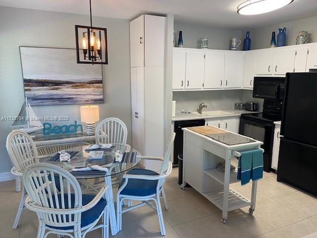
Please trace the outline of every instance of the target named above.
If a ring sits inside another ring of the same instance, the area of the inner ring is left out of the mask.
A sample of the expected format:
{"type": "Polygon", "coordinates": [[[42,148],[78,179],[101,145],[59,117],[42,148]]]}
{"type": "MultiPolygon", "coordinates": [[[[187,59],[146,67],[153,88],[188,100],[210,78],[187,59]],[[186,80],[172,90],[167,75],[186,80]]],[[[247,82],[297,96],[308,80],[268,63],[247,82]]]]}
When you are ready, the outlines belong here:
{"type": "Polygon", "coordinates": [[[77,63],[108,64],[107,29],[93,27],[90,6],[90,26],[75,25],[77,63]]]}

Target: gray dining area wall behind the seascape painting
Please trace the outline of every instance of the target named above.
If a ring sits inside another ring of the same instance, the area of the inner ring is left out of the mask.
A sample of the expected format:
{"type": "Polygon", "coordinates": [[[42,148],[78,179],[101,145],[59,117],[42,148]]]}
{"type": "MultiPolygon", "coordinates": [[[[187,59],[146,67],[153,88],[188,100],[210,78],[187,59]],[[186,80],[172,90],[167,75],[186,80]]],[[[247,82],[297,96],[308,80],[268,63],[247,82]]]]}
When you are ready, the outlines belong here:
{"type": "MultiPolygon", "coordinates": [[[[19,46],[75,48],[74,25],[89,25],[89,16],[0,6],[0,118],[17,116],[24,101],[19,46]]],[[[131,143],[129,20],[94,17],[93,25],[107,28],[108,60],[103,66],[105,103],[100,118],[118,117],[128,127],[131,143]]],[[[80,121],[81,105],[37,106],[41,116],[70,116],[80,121]]],[[[11,121],[0,121],[0,173],[11,168],[5,140],[11,121]]],[[[65,124],[64,122],[62,124],[65,124]]]]}

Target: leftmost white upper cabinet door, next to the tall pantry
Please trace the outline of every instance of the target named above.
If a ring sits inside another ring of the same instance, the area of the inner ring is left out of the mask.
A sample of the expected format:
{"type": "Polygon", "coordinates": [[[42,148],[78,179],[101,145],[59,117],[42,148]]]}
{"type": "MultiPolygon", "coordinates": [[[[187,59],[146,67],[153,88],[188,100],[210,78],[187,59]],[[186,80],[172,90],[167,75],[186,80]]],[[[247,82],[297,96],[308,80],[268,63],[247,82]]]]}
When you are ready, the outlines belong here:
{"type": "Polygon", "coordinates": [[[173,89],[185,89],[186,52],[174,49],[173,89]]]}

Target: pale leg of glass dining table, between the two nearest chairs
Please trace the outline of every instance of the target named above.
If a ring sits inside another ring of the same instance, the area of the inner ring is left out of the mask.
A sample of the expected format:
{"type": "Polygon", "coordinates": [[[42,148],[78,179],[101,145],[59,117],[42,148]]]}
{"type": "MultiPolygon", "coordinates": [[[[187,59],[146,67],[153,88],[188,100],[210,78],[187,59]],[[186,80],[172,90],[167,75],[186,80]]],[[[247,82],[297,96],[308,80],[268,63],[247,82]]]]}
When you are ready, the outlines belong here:
{"type": "Polygon", "coordinates": [[[116,223],[116,214],[115,214],[115,210],[114,210],[111,176],[107,175],[105,178],[105,182],[106,182],[106,185],[108,185],[108,189],[106,190],[106,201],[108,204],[111,235],[115,236],[118,233],[118,230],[117,230],[117,225],[116,225],[117,224],[116,223]]]}

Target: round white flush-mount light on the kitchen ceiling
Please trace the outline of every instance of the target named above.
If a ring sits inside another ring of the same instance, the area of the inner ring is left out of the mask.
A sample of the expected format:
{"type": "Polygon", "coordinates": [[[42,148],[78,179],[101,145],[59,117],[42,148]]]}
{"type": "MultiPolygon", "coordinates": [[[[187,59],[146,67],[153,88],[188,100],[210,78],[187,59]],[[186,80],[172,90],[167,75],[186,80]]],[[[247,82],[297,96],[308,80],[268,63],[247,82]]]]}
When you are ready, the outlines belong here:
{"type": "Polygon", "coordinates": [[[246,0],[238,5],[238,13],[241,15],[257,15],[292,3],[294,0],[246,0]]]}

